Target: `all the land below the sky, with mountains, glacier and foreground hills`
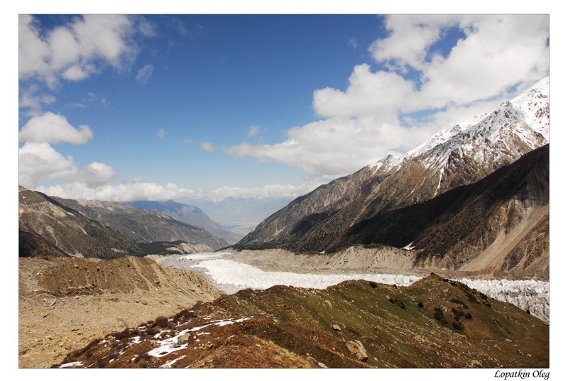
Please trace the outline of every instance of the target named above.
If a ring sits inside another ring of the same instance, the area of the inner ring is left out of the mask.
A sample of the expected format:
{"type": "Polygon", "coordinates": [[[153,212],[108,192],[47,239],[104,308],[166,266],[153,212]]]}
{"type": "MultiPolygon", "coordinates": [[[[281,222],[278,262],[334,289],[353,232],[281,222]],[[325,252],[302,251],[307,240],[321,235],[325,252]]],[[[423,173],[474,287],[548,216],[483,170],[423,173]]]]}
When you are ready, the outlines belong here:
{"type": "Polygon", "coordinates": [[[20,368],[548,368],[548,83],[246,236],[18,187],[20,368]]]}

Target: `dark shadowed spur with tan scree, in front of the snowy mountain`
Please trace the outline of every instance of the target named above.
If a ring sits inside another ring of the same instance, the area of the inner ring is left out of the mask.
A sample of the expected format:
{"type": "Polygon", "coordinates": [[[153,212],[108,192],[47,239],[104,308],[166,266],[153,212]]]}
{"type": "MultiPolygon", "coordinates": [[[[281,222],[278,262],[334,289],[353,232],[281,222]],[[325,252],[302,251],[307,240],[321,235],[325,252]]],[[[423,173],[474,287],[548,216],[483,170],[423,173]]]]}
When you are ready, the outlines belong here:
{"type": "MultiPolygon", "coordinates": [[[[547,279],[549,146],[484,180],[351,226],[328,247],[409,245],[415,265],[547,279]]],[[[320,241],[307,233],[300,247],[320,241]]]]}

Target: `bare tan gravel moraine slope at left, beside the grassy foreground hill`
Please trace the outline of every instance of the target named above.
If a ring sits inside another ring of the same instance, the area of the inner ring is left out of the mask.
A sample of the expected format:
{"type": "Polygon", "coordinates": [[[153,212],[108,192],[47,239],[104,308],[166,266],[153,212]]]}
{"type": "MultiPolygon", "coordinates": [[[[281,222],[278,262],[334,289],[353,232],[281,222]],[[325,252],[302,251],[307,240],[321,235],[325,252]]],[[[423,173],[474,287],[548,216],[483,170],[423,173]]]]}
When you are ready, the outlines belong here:
{"type": "Polygon", "coordinates": [[[148,258],[20,258],[19,368],[49,368],[74,348],[223,292],[200,272],[148,258]]]}

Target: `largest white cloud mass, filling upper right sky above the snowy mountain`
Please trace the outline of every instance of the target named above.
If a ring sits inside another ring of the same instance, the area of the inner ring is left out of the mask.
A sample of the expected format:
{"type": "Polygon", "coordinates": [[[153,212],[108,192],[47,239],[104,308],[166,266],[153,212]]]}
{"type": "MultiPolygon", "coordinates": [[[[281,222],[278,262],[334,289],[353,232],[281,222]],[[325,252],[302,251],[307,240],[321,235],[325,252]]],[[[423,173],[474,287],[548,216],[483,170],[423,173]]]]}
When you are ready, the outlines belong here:
{"type": "Polygon", "coordinates": [[[243,142],[223,150],[332,180],[389,153],[402,155],[449,123],[512,98],[511,89],[522,91],[548,75],[547,15],[385,20],[389,34],[369,47],[380,69],[357,65],[345,90],[317,89],[313,107],[322,120],[290,128],[281,143],[243,142]],[[454,41],[451,30],[460,31],[454,41]],[[441,41],[453,46],[440,53],[435,44],[441,41]],[[430,117],[413,118],[417,111],[430,111],[430,117]]]}

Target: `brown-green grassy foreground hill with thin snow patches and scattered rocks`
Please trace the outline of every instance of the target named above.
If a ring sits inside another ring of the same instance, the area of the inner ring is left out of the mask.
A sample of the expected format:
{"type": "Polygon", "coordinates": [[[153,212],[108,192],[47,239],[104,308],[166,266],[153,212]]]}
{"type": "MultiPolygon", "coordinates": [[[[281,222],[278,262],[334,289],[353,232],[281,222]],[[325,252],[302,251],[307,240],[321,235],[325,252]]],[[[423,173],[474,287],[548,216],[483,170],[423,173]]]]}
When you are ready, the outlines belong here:
{"type": "Polygon", "coordinates": [[[246,289],[99,338],[53,368],[548,368],[549,354],[547,324],[431,275],[410,287],[246,289]]]}

